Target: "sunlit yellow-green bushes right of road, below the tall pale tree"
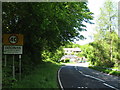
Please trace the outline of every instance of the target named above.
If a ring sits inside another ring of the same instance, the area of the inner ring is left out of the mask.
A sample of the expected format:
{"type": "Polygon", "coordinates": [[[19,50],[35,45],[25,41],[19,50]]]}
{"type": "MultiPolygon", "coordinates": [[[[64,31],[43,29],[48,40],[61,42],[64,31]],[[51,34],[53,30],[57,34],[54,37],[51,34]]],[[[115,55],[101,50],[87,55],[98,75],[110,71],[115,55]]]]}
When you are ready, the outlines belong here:
{"type": "Polygon", "coordinates": [[[118,67],[118,65],[120,65],[120,57],[118,55],[118,45],[120,44],[119,37],[115,32],[113,32],[111,36],[114,38],[112,43],[112,61],[110,60],[110,43],[106,39],[96,40],[89,45],[81,47],[84,55],[88,58],[91,64],[105,67],[118,67]]]}

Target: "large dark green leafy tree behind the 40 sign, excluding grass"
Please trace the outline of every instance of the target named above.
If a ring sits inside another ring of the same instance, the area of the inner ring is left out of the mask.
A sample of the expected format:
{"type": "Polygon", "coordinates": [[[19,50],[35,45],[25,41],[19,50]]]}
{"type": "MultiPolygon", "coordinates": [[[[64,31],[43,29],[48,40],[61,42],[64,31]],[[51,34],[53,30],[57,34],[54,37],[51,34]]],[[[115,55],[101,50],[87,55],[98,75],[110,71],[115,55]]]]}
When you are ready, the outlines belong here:
{"type": "MultiPolygon", "coordinates": [[[[43,60],[58,61],[62,55],[59,47],[73,38],[81,38],[79,31],[84,30],[83,22],[91,23],[93,19],[86,2],[3,2],[2,8],[2,33],[24,35],[23,77],[43,60]]],[[[11,68],[12,60],[9,62],[6,68],[11,68]]],[[[10,84],[8,76],[12,76],[12,69],[7,72],[6,68],[3,68],[3,78],[6,78],[3,84],[10,84]]]]}

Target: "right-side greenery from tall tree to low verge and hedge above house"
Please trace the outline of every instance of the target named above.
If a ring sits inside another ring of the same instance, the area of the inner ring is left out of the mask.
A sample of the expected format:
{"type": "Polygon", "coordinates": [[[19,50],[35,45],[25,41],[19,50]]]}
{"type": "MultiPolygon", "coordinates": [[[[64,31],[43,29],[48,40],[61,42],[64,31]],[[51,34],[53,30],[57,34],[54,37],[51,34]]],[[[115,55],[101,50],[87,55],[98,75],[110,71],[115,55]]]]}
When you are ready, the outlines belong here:
{"type": "MultiPolygon", "coordinates": [[[[117,30],[116,6],[116,3],[106,0],[103,7],[100,8],[100,15],[96,20],[94,42],[82,46],[73,43],[66,45],[68,48],[79,47],[82,52],[78,53],[77,56],[87,58],[90,66],[117,68],[120,70],[120,37],[117,30]]],[[[93,69],[96,69],[96,67],[93,67],[93,69]]],[[[101,69],[99,68],[99,70],[101,69]]],[[[119,75],[119,71],[107,69],[102,69],[102,71],[119,75]]]]}

